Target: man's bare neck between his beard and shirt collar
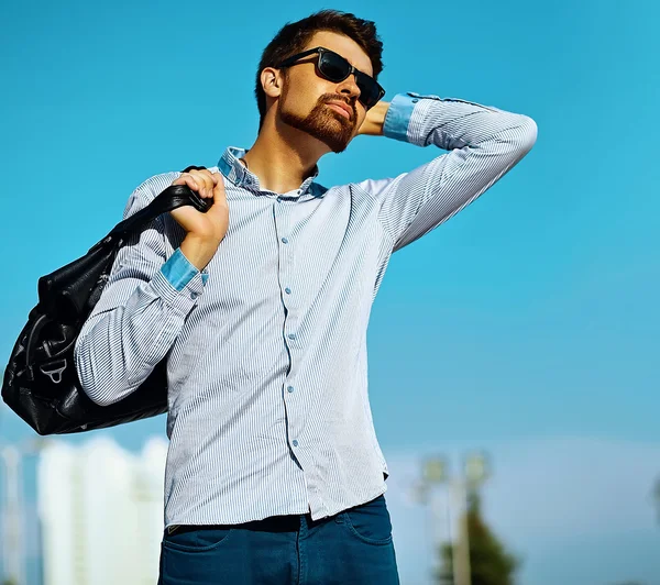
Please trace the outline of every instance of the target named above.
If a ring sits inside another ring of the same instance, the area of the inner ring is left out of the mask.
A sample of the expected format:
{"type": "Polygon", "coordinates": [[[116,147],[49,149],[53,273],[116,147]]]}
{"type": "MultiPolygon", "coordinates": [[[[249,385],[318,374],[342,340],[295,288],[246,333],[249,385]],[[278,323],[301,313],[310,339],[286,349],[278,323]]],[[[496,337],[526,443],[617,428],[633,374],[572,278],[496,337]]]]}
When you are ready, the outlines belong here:
{"type": "Polygon", "coordinates": [[[243,157],[262,189],[284,194],[314,175],[328,147],[309,134],[266,115],[255,143],[243,157]]]}

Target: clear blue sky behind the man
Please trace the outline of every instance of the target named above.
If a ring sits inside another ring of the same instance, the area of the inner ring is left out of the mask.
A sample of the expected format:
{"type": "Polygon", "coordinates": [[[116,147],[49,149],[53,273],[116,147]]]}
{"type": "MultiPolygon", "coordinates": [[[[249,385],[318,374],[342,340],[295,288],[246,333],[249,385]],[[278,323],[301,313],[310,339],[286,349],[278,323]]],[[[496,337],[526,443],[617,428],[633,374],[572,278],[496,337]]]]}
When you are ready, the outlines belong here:
{"type": "MultiPolygon", "coordinates": [[[[182,7],[0,7],[4,362],[36,302],[37,278],[109,231],[136,185],[190,164],[212,166],[226,146],[252,144],[261,51],[284,22],[328,5],[182,7]]],[[[531,153],[501,183],[392,258],[369,331],[370,393],[385,454],[407,470],[427,452],[488,450],[494,478],[484,492],[486,514],[524,553],[525,584],[558,583],[559,559],[565,585],[607,584],[613,575],[660,583],[660,561],[640,552],[660,544],[645,499],[660,474],[653,365],[660,122],[652,109],[660,96],[660,5],[404,8],[385,0],[332,8],[376,21],[386,100],[409,90],[462,98],[525,113],[539,129],[531,153]],[[607,461],[602,475],[588,475],[603,479],[597,484],[571,463],[587,460],[588,445],[600,445],[607,461]],[[641,467],[629,465],[638,459],[641,467]],[[550,484],[517,479],[522,472],[542,477],[548,462],[550,484]],[[539,499],[547,485],[552,497],[539,499]],[[581,520],[578,541],[556,550],[542,531],[519,538],[516,521],[530,515],[516,501],[564,518],[556,520],[557,533],[564,526],[563,538],[574,540],[581,508],[566,514],[566,505],[586,506],[592,489],[603,495],[601,508],[581,520]],[[622,512],[605,530],[597,519],[609,518],[612,506],[622,512]],[[590,561],[608,554],[618,555],[618,573],[590,561]]],[[[361,136],[344,154],[321,161],[319,180],[395,176],[437,154],[361,136]]],[[[164,433],[164,419],[107,432],[138,449],[164,433]]],[[[0,438],[30,435],[0,410],[0,438]]],[[[395,507],[397,482],[394,473],[395,507]]],[[[406,522],[410,516],[399,515],[402,542],[403,534],[421,542],[406,522]]],[[[399,544],[402,566],[418,564],[418,549],[399,544]]]]}

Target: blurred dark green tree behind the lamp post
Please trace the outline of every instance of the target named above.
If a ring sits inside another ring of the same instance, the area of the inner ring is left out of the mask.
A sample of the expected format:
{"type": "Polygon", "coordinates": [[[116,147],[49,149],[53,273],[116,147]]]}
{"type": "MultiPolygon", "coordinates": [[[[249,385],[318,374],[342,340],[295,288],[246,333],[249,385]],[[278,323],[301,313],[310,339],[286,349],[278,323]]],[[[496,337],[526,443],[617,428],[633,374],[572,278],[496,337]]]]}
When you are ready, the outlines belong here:
{"type": "MultiPolygon", "coordinates": [[[[472,585],[514,585],[520,561],[507,552],[482,516],[476,492],[468,498],[468,534],[470,537],[470,572],[472,585]]],[[[440,548],[442,567],[437,573],[441,585],[453,585],[451,543],[440,548]]]]}

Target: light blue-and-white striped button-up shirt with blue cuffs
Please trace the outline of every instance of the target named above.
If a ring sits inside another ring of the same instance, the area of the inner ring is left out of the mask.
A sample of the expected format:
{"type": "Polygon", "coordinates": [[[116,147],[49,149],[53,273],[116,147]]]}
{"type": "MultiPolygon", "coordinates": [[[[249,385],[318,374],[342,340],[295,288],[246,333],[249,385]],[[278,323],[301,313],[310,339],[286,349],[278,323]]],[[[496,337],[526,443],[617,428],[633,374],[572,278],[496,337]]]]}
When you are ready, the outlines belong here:
{"type": "MultiPolygon", "coordinates": [[[[172,216],[128,242],[76,344],[97,404],[167,360],[165,526],[317,520],[386,490],[367,395],[366,330],[393,252],[452,217],[536,142],[526,115],[402,93],[384,135],[449,151],[395,178],[276,194],[228,148],[229,231],[202,271],[172,216]]],[[[132,194],[124,217],[179,173],[132,194]]]]}

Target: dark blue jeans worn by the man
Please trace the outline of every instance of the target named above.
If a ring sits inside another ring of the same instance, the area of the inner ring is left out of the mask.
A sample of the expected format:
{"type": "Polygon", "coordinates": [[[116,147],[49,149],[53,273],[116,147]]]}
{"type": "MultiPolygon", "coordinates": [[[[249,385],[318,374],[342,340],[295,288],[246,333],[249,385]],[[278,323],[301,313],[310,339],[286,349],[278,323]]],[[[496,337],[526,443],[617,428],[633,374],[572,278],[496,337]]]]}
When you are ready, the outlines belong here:
{"type": "Polygon", "coordinates": [[[398,585],[383,496],[337,516],[165,530],[158,585],[398,585]]]}

